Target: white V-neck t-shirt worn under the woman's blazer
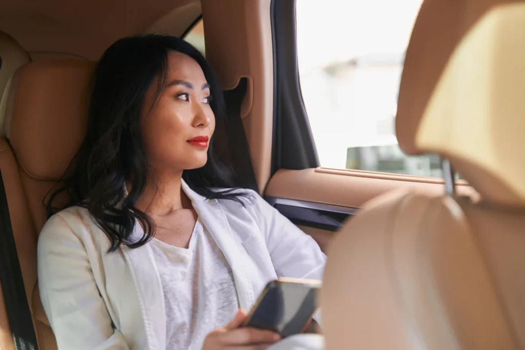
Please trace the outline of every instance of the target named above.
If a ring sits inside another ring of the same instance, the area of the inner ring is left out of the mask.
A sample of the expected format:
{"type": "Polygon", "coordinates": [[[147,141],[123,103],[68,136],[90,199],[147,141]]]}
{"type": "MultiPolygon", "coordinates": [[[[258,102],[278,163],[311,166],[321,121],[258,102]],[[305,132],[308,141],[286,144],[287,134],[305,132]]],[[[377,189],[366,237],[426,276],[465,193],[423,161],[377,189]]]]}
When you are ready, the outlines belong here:
{"type": "Polygon", "coordinates": [[[232,269],[197,220],[188,249],[152,240],[166,308],[166,350],[201,349],[239,309],[232,269]]]}

